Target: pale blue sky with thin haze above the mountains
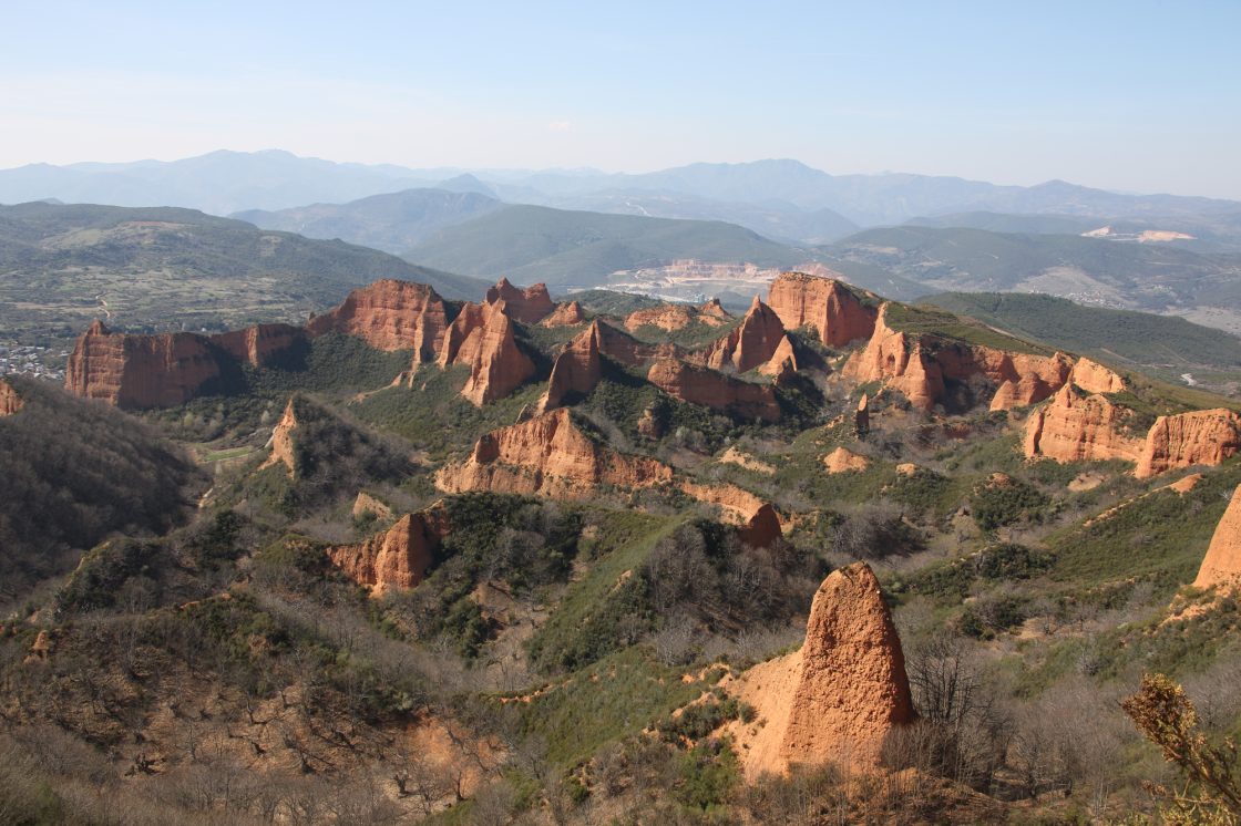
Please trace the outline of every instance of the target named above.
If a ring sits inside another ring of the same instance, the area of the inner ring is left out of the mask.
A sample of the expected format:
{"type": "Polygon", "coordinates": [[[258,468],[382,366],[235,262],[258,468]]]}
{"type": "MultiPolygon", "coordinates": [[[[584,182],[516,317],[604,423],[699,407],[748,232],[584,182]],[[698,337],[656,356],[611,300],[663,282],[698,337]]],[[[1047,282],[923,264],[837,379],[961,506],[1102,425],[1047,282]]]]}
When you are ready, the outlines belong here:
{"type": "Polygon", "coordinates": [[[0,2],[0,167],[794,158],[1241,200],[1241,0],[0,2]]]}

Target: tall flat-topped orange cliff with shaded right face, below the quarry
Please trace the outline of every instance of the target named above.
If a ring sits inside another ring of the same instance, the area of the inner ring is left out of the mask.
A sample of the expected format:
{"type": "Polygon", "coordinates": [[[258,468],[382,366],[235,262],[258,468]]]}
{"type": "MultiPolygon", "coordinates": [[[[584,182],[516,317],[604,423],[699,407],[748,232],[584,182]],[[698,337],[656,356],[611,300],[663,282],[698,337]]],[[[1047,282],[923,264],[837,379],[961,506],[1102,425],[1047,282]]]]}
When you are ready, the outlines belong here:
{"type": "Polygon", "coordinates": [[[869,339],[875,331],[875,306],[833,278],[782,273],[772,282],[767,304],[786,329],[813,326],[819,341],[829,347],[869,339]]]}

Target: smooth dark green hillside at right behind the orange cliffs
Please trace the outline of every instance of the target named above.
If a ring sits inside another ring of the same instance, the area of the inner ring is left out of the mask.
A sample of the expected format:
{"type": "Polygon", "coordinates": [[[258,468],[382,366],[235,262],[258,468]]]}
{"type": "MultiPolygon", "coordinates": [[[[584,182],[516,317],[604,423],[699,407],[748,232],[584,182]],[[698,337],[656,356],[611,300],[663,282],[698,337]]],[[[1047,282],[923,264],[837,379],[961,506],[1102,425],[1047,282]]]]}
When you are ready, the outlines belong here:
{"type": "Polygon", "coordinates": [[[1215,372],[1241,373],[1241,339],[1176,316],[1085,306],[1026,293],[939,293],[918,304],[1162,377],[1191,372],[1205,382],[1215,372]]]}

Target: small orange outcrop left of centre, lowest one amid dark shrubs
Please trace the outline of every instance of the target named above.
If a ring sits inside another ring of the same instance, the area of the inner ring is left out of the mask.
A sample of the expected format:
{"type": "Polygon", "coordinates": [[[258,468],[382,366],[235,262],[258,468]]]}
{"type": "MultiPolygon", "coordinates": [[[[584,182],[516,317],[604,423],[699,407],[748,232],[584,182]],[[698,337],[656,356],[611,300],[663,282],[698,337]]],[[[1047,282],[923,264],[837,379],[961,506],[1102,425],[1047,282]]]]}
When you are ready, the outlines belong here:
{"type": "Polygon", "coordinates": [[[387,531],[359,544],[328,548],[328,559],[359,585],[377,597],[390,589],[413,588],[434,562],[436,548],[448,535],[442,505],[406,513],[387,531]]]}

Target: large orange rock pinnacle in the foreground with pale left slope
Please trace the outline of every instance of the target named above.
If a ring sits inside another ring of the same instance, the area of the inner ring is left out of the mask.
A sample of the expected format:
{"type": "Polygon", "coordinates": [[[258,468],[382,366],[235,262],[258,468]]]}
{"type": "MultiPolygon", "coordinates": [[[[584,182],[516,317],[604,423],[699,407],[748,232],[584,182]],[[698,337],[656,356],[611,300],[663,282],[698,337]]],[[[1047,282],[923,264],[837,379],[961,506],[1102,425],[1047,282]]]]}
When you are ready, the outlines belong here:
{"type": "Polygon", "coordinates": [[[757,724],[730,727],[750,779],[794,764],[875,769],[889,734],[915,718],[901,641],[862,562],[819,585],[799,651],[727,690],[758,712],[757,724]]]}

